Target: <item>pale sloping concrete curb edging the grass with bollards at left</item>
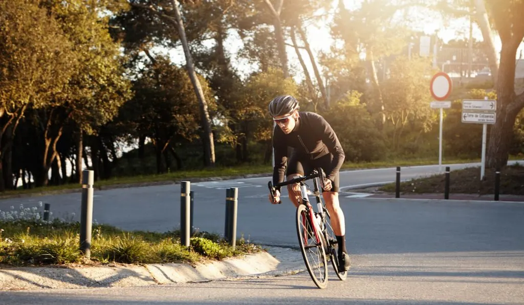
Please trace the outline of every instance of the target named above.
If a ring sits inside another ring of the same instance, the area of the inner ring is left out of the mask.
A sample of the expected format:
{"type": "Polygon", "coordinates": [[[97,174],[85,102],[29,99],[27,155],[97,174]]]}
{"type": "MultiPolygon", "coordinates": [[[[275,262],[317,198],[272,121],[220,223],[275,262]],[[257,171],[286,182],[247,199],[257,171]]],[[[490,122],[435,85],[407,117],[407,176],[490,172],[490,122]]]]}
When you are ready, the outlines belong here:
{"type": "Polygon", "coordinates": [[[253,276],[277,276],[304,270],[299,251],[268,247],[268,252],[196,264],[110,264],[78,267],[0,268],[0,290],[138,287],[198,283],[253,276]],[[271,254],[274,253],[275,255],[271,254]]]}

